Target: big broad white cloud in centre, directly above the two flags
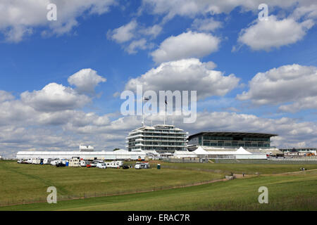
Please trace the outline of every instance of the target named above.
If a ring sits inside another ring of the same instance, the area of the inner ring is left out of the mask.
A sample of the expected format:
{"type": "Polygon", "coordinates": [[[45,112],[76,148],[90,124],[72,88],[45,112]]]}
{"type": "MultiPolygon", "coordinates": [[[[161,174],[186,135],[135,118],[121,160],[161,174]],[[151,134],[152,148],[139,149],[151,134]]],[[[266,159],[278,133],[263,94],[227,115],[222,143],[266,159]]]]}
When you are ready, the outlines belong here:
{"type": "Polygon", "coordinates": [[[130,79],[125,89],[135,91],[137,85],[143,85],[144,90],[197,91],[198,98],[224,96],[235,89],[240,79],[211,70],[213,66],[213,63],[201,63],[197,58],[161,63],[144,75],[130,79]]]}

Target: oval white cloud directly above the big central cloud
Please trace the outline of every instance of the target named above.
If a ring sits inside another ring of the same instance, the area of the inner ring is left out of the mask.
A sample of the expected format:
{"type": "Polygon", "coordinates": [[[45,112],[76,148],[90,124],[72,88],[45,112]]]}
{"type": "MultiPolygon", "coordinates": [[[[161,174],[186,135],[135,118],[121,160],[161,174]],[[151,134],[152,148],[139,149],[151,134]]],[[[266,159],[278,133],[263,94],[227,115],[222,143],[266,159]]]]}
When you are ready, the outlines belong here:
{"type": "Polygon", "coordinates": [[[189,31],[168,37],[151,56],[156,63],[182,58],[201,58],[217,51],[219,43],[220,39],[212,34],[189,31]]]}

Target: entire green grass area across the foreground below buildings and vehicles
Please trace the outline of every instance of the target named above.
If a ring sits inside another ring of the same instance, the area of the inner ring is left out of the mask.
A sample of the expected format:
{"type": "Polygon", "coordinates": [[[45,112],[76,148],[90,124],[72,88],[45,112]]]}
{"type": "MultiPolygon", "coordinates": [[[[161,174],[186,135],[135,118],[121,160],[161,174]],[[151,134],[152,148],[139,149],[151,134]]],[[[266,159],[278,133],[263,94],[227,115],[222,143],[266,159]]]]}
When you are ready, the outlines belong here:
{"type": "Polygon", "coordinates": [[[57,204],[11,205],[0,210],[317,210],[316,171],[272,175],[297,172],[299,167],[317,169],[317,165],[211,163],[163,163],[162,169],[87,169],[0,161],[0,201],[4,203],[46,199],[48,186],[56,186],[58,195],[116,194],[157,187],[157,191],[144,193],[60,200],[57,204]],[[178,169],[173,169],[175,166],[178,169]],[[160,186],[172,188],[222,179],[228,172],[270,175],[159,191],[160,186]],[[268,187],[268,204],[258,202],[260,186],[268,187]]]}

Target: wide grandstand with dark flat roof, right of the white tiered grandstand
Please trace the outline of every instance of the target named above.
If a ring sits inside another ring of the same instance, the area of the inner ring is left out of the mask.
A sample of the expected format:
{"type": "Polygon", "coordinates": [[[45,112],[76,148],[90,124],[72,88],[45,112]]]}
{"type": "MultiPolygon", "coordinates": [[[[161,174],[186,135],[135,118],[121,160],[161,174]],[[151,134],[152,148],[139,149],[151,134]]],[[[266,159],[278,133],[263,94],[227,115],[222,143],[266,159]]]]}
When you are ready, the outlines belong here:
{"type": "Polygon", "coordinates": [[[199,146],[206,151],[235,151],[243,147],[249,153],[266,153],[282,155],[276,147],[271,146],[271,137],[277,134],[251,132],[205,131],[193,134],[188,138],[188,150],[199,146]]]}

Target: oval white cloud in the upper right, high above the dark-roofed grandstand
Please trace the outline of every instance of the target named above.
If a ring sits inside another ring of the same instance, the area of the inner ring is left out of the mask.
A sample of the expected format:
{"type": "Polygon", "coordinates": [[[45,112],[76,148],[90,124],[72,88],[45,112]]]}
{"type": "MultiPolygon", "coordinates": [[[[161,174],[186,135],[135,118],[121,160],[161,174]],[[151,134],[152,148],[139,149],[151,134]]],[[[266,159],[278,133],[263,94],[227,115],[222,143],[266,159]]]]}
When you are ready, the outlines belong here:
{"type": "Polygon", "coordinates": [[[297,23],[293,18],[278,20],[274,15],[269,16],[268,20],[255,21],[253,25],[242,30],[238,41],[253,50],[266,51],[296,43],[303,39],[307,30],[314,25],[313,20],[297,23]]]}

